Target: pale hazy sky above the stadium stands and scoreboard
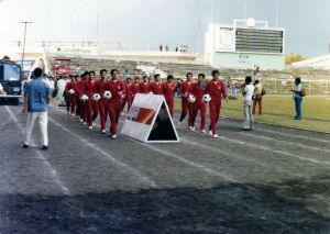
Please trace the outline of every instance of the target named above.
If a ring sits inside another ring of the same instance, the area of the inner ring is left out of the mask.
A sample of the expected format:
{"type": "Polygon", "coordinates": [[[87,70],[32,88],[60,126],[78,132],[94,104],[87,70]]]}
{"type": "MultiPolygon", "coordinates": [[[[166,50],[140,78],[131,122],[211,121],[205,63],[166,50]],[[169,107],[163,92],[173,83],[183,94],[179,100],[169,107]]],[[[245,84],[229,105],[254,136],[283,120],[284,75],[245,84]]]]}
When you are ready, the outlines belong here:
{"type": "Polygon", "coordinates": [[[182,44],[196,52],[199,44],[202,52],[212,20],[232,23],[245,12],[275,26],[276,1],[286,53],[328,54],[330,0],[0,0],[0,44],[22,41],[18,22],[32,21],[28,44],[100,40],[120,42],[127,49],[182,44]]]}

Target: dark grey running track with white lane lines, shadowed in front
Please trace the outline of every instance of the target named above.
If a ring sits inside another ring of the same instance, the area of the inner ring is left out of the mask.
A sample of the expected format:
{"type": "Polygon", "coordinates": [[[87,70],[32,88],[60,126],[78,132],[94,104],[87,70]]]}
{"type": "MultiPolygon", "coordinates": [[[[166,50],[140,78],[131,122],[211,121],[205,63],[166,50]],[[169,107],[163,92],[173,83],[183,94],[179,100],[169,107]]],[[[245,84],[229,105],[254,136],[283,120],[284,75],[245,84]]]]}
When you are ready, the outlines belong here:
{"type": "Polygon", "coordinates": [[[26,151],[20,111],[0,105],[1,234],[330,233],[329,134],[221,118],[219,140],[147,145],[51,108],[26,151]]]}

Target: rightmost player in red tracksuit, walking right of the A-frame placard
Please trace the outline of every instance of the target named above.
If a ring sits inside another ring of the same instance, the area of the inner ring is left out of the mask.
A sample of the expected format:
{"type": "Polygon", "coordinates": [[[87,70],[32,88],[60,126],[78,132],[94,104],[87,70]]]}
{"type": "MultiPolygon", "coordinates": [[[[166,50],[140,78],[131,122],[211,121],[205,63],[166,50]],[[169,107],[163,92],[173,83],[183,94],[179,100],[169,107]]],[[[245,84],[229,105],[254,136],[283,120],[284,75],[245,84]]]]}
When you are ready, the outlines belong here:
{"type": "Polygon", "coordinates": [[[205,89],[205,93],[209,93],[211,96],[211,101],[209,103],[211,124],[209,131],[210,131],[210,135],[212,135],[216,138],[219,137],[216,131],[216,125],[221,109],[221,94],[226,98],[226,101],[228,101],[226,87],[223,82],[219,80],[219,76],[220,76],[219,71],[213,70],[212,71],[213,79],[207,83],[205,89]]]}

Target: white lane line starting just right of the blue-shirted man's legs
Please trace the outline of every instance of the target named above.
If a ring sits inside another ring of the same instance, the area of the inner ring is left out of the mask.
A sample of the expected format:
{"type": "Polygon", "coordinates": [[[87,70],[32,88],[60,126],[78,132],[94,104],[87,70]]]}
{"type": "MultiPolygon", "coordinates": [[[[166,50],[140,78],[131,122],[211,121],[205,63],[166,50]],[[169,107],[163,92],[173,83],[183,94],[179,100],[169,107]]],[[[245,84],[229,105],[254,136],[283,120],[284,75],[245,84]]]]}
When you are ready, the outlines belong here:
{"type": "Polygon", "coordinates": [[[67,127],[63,126],[61,123],[56,122],[54,119],[48,118],[51,122],[53,122],[56,126],[61,127],[62,130],[64,130],[65,132],[69,133],[72,136],[74,136],[75,138],[79,140],[80,142],[82,142],[86,146],[92,148],[94,151],[99,152],[101,155],[106,156],[107,158],[109,158],[110,160],[112,160],[113,163],[118,164],[120,167],[122,167],[124,169],[124,172],[127,171],[131,171],[132,174],[134,174],[141,181],[147,183],[147,186],[152,187],[152,188],[158,188],[157,185],[152,181],[151,179],[148,179],[146,176],[143,176],[142,174],[140,174],[138,170],[135,170],[134,168],[132,168],[131,166],[116,159],[113,156],[111,156],[109,153],[105,152],[103,149],[99,148],[97,145],[88,142],[87,140],[82,138],[81,136],[77,135],[76,133],[73,133],[70,130],[68,130],[67,127]]]}

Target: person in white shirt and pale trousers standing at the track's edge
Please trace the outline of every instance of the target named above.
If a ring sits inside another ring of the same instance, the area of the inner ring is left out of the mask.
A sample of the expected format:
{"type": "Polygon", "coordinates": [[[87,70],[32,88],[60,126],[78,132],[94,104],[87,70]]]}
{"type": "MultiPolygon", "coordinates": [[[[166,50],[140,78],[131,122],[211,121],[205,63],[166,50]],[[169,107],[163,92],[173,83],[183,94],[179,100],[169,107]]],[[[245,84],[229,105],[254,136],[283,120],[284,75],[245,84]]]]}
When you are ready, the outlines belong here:
{"type": "Polygon", "coordinates": [[[242,86],[244,96],[244,123],[243,130],[253,130],[253,115],[252,115],[252,96],[254,92],[254,86],[251,83],[252,78],[248,76],[245,83],[242,86]]]}

